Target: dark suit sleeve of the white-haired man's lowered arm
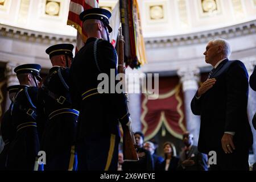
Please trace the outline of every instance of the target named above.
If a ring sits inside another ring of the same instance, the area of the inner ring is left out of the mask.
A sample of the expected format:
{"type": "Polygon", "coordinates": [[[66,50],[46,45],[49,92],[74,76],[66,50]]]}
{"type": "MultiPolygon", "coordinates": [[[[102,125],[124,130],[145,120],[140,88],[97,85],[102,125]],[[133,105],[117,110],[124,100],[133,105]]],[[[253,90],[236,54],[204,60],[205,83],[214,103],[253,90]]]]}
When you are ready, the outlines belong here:
{"type": "Polygon", "coordinates": [[[248,74],[241,61],[230,65],[226,75],[226,121],[224,131],[236,132],[242,122],[245,122],[242,113],[247,113],[248,74]]]}

